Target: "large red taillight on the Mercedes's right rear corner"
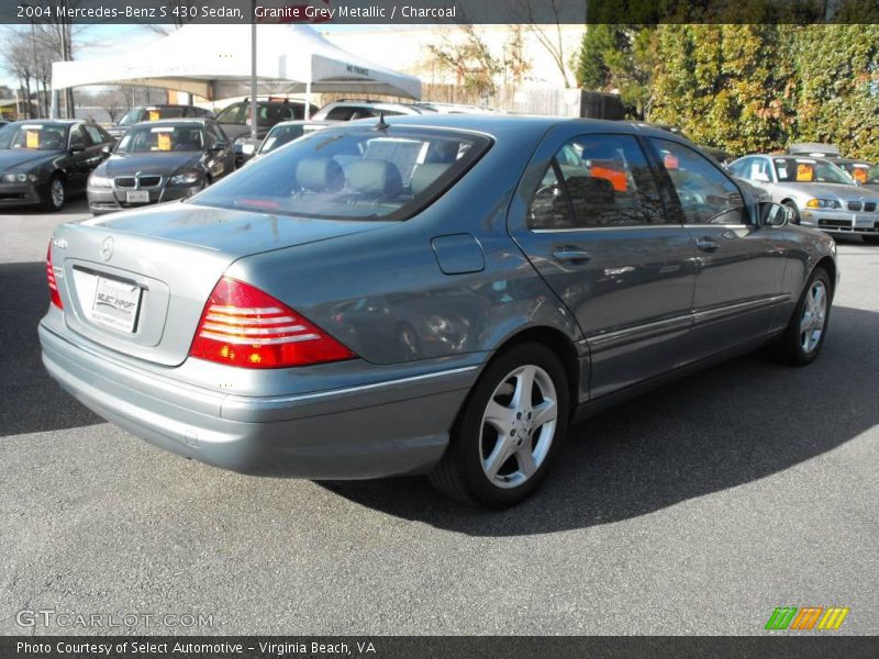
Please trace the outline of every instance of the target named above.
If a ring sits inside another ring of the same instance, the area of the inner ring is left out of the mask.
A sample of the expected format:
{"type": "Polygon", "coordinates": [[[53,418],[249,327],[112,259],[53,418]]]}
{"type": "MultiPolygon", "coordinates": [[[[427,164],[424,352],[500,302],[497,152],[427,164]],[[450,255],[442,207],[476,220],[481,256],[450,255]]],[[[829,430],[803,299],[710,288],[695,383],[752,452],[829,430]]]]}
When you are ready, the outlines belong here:
{"type": "Polygon", "coordinates": [[[351,359],[354,353],[259,289],[223,277],[201,314],[190,356],[246,368],[351,359]]]}

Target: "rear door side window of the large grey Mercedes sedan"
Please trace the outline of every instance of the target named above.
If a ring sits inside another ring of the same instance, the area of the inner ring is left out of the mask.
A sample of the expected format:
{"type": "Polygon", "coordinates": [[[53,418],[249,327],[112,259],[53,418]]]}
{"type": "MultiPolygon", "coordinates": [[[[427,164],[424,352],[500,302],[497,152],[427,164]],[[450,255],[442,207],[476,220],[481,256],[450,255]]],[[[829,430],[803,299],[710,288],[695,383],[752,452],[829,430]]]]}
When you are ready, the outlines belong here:
{"type": "Polygon", "coordinates": [[[587,135],[565,144],[544,175],[530,228],[664,224],[659,190],[632,135],[587,135]]]}

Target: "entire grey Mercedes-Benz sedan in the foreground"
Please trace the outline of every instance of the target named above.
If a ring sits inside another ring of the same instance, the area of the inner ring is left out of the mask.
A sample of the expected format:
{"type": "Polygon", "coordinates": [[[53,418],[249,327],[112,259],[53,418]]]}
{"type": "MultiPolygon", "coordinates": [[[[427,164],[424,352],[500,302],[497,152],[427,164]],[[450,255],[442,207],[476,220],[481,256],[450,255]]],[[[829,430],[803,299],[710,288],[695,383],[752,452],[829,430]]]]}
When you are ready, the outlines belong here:
{"type": "Polygon", "coordinates": [[[770,342],[814,359],[835,246],[787,212],[641,126],[356,122],[186,202],[60,226],[43,359],[183,456],[426,472],[500,507],[575,412],[770,342]]]}

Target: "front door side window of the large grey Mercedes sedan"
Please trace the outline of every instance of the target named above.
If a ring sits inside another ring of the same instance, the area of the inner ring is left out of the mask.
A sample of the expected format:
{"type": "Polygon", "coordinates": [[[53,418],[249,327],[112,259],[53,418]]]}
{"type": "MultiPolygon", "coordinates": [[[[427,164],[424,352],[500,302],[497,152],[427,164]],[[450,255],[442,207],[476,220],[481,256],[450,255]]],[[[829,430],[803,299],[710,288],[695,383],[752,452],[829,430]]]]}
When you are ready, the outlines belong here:
{"type": "Polygon", "coordinates": [[[656,137],[650,142],[671,179],[687,224],[747,224],[742,192],[716,165],[677,142],[656,137]]]}

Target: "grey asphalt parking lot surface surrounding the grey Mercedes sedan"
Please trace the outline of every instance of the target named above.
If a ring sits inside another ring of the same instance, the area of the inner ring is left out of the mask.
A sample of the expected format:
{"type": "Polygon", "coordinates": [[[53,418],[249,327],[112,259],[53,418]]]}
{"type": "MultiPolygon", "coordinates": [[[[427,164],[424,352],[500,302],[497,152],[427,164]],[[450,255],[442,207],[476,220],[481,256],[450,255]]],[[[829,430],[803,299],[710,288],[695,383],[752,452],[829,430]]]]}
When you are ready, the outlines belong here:
{"type": "Polygon", "coordinates": [[[485,513],[420,478],[223,472],[88,412],[36,339],[48,238],[87,216],[0,212],[0,634],[760,634],[782,605],[879,633],[878,247],[839,242],[813,366],[755,354],[602,413],[485,513]],[[212,621],[16,623],[38,608],[212,621]]]}

